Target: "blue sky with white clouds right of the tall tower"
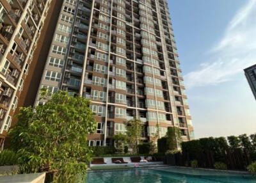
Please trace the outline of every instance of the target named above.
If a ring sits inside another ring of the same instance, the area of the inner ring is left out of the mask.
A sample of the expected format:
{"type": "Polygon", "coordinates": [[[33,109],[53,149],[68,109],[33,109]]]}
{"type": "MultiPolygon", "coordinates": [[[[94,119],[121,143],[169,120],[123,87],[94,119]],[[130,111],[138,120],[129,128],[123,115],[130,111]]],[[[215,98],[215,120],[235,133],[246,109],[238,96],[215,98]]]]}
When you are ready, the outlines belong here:
{"type": "Polygon", "coordinates": [[[195,137],[256,132],[256,0],[168,0],[195,137]]]}

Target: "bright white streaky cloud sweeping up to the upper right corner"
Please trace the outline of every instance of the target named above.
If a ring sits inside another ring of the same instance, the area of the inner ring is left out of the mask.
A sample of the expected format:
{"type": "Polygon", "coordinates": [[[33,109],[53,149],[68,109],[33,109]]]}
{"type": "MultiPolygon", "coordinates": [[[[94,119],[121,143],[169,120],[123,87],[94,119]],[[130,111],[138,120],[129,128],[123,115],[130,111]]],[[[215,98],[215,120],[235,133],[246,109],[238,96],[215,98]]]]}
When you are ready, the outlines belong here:
{"type": "Polygon", "coordinates": [[[255,22],[256,0],[250,0],[229,22],[223,38],[209,50],[211,59],[186,74],[186,86],[193,88],[227,82],[256,63],[255,22]]]}

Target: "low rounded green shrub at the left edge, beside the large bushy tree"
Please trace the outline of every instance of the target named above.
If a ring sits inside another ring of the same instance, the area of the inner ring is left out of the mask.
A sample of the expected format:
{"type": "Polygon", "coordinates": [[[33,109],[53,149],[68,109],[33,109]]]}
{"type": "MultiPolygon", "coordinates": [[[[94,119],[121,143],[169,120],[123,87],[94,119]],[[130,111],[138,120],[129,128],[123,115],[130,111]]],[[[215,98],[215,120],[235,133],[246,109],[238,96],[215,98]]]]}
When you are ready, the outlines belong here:
{"type": "Polygon", "coordinates": [[[17,164],[18,155],[12,150],[2,150],[0,152],[0,166],[17,164]]]}

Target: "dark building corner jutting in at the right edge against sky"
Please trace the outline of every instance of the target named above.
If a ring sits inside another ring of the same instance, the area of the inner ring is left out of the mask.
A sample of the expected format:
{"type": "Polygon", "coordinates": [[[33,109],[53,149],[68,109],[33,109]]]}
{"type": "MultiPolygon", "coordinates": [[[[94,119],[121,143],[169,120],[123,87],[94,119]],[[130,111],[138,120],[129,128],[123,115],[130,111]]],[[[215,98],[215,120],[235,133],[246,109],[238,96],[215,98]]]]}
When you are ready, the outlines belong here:
{"type": "Polygon", "coordinates": [[[256,64],[244,69],[244,74],[250,84],[252,93],[256,99],[256,64]]]}

